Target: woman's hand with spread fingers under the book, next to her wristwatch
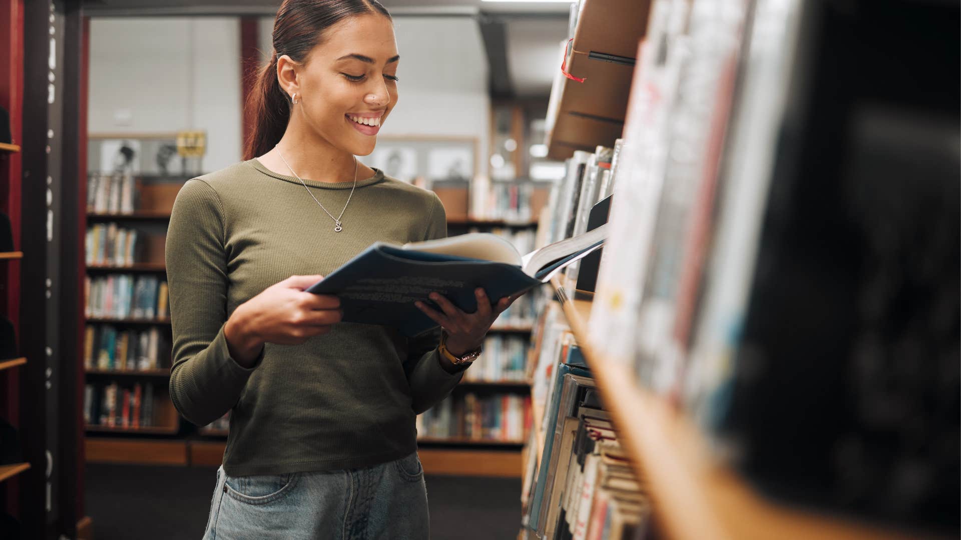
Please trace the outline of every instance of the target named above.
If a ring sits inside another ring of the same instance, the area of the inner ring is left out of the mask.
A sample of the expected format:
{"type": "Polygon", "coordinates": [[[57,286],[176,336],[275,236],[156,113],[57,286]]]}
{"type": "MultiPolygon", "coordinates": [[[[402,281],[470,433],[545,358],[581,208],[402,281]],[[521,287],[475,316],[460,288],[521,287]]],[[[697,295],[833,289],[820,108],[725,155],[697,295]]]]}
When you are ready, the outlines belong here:
{"type": "Polygon", "coordinates": [[[447,350],[454,356],[463,356],[477,349],[483,344],[483,339],[490,330],[490,326],[497,320],[507,307],[518,297],[505,296],[493,307],[487,299],[487,293],[482,288],[474,291],[478,299],[478,309],[473,313],[465,313],[444,298],[443,295],[431,292],[431,300],[440,307],[443,312],[428,307],[423,302],[415,302],[414,305],[424,311],[433,322],[437,323],[447,332],[447,350]]]}

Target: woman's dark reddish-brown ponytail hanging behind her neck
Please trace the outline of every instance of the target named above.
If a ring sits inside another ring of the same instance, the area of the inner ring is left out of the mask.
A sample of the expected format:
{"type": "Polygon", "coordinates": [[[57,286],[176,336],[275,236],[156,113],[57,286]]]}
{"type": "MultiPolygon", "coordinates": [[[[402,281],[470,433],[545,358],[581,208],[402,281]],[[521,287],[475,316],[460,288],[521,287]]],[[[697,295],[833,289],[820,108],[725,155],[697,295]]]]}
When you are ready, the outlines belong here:
{"type": "Polygon", "coordinates": [[[244,160],[253,160],[269,152],[283,137],[290,120],[290,102],[277,82],[277,52],[257,75],[254,91],[247,98],[246,109],[254,119],[254,129],[244,141],[244,160]]]}

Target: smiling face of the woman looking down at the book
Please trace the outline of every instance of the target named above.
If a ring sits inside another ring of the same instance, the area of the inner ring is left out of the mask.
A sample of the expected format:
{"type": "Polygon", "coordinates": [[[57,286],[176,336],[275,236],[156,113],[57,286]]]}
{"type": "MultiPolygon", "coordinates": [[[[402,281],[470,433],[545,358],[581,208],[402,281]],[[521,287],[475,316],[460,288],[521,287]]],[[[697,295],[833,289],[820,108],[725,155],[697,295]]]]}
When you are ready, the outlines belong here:
{"type": "Polygon", "coordinates": [[[390,19],[365,14],[342,20],[296,67],[299,104],[292,113],[302,114],[334,147],[366,156],[397,103],[398,62],[390,19]]]}

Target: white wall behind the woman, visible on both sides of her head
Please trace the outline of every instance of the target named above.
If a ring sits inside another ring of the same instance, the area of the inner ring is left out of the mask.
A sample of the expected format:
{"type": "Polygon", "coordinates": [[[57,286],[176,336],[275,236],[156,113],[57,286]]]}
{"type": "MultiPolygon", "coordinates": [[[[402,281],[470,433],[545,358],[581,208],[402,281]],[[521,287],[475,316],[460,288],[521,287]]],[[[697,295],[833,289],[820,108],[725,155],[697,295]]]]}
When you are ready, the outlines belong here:
{"type": "MultiPolygon", "coordinates": [[[[266,59],[271,17],[258,27],[266,59]]],[[[476,137],[486,174],[490,99],[477,22],[399,16],[395,28],[400,101],[381,134],[476,137]]],[[[93,18],[89,132],[203,129],[206,170],[240,160],[239,34],[235,17],[93,18]]]]}

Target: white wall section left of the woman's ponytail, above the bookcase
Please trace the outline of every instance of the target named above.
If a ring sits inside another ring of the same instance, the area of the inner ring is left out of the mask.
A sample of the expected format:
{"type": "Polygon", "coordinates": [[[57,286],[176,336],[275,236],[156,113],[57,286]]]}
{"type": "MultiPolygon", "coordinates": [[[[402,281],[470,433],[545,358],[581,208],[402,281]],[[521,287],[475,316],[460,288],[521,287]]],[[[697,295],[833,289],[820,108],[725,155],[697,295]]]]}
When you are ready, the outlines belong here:
{"type": "Polygon", "coordinates": [[[235,17],[93,18],[90,134],[207,131],[204,169],[241,158],[235,17]]]}

